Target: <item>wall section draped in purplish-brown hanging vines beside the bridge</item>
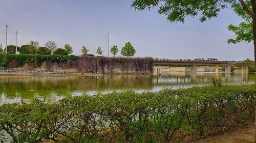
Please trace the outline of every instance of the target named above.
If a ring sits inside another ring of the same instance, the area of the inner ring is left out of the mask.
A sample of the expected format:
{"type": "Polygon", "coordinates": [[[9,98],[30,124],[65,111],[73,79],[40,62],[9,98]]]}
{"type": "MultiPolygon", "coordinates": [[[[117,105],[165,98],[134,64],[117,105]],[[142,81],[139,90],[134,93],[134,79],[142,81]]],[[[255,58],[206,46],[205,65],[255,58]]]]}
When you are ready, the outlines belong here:
{"type": "Polygon", "coordinates": [[[80,56],[73,67],[78,72],[90,73],[153,73],[154,59],[146,58],[108,58],[104,56],[80,56]]]}

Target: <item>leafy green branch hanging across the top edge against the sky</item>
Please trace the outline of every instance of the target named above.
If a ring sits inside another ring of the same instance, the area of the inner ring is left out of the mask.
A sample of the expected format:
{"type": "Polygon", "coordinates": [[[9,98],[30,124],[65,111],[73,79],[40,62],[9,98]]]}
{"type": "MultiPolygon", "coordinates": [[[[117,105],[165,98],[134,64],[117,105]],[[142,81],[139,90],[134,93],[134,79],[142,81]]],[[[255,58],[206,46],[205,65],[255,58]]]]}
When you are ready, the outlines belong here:
{"type": "Polygon", "coordinates": [[[151,10],[158,7],[160,15],[166,15],[170,22],[183,22],[186,16],[195,17],[200,14],[200,21],[204,22],[212,17],[217,17],[218,13],[227,8],[228,5],[236,4],[232,0],[197,0],[197,1],[168,1],[168,0],[135,0],[132,7],[139,11],[151,10]]]}

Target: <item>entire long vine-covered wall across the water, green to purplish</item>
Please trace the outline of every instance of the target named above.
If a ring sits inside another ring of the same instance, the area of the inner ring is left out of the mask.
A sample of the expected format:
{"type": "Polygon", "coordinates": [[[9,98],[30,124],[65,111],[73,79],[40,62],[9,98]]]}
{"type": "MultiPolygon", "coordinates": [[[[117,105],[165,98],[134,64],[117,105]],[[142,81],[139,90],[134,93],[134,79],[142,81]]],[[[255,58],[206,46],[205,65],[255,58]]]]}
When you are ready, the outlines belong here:
{"type": "Polygon", "coordinates": [[[153,73],[153,58],[109,58],[104,56],[0,54],[0,66],[68,70],[76,73],[153,73]]]}

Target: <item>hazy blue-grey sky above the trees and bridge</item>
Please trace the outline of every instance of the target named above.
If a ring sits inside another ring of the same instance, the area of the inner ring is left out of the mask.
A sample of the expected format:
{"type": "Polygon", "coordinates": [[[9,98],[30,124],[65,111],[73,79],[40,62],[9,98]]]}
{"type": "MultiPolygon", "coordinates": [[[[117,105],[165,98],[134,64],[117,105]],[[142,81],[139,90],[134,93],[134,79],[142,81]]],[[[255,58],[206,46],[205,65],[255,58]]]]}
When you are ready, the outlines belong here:
{"type": "Polygon", "coordinates": [[[131,4],[130,0],[1,0],[0,44],[5,47],[8,23],[8,45],[16,45],[17,30],[18,46],[31,40],[40,46],[55,41],[58,48],[68,43],[75,55],[82,54],[85,45],[95,55],[100,46],[108,56],[110,31],[110,47],[118,46],[118,56],[124,44],[131,42],[136,57],[253,59],[253,43],[227,44],[234,34],[226,27],[242,21],[230,8],[203,23],[199,17],[170,23],[156,8],[139,12],[131,4]]]}

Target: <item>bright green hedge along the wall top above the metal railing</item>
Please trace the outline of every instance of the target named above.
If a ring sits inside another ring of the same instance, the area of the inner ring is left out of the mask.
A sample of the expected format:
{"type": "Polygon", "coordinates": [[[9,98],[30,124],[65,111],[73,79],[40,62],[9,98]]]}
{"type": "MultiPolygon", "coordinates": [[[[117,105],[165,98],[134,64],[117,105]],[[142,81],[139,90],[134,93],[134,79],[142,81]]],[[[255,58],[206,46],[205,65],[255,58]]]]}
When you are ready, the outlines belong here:
{"type": "Polygon", "coordinates": [[[42,62],[67,63],[69,60],[77,59],[75,55],[41,55],[41,54],[1,54],[0,65],[8,67],[8,64],[16,60],[19,66],[23,66],[28,62],[35,62],[37,67],[40,67],[42,62]]]}

